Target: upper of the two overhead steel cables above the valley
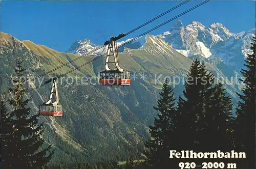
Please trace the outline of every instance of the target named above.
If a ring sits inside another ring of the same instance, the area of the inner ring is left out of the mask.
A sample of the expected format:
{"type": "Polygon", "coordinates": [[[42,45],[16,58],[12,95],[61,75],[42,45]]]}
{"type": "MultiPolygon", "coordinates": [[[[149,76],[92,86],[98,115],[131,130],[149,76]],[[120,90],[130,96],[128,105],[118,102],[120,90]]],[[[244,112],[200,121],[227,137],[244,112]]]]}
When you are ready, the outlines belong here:
{"type": "MultiPolygon", "coordinates": [[[[169,12],[171,12],[171,11],[177,9],[177,8],[179,8],[180,6],[182,6],[182,5],[186,4],[186,3],[188,3],[189,1],[190,1],[190,0],[184,1],[183,3],[181,3],[181,4],[179,4],[179,5],[177,5],[177,6],[173,7],[173,8],[171,8],[171,9],[169,9],[169,10],[167,10],[167,11],[165,11],[164,13],[162,13],[162,14],[160,14],[160,15],[158,15],[158,16],[156,16],[155,18],[153,18],[153,19],[151,19],[151,20],[149,20],[149,21],[147,21],[147,22],[141,24],[140,26],[136,27],[136,28],[133,29],[132,31],[127,32],[126,34],[124,34],[124,36],[122,36],[121,38],[123,38],[123,37],[125,37],[125,36],[127,36],[127,35],[129,35],[129,34],[131,34],[131,33],[133,33],[133,32],[135,32],[136,30],[140,29],[141,27],[143,27],[143,26],[147,25],[148,23],[151,23],[151,22],[153,22],[154,20],[156,20],[156,19],[162,17],[163,15],[165,15],[165,14],[167,14],[167,13],[169,13],[169,12]]],[[[121,39],[121,38],[120,38],[120,39],[121,39]]],[[[67,62],[67,63],[65,63],[65,64],[63,64],[63,65],[60,65],[60,66],[58,66],[58,67],[56,67],[56,68],[54,68],[54,69],[52,69],[52,70],[50,70],[50,71],[47,71],[47,72],[45,72],[45,73],[43,73],[43,74],[41,74],[41,75],[39,75],[39,76],[37,76],[37,77],[35,77],[35,78],[29,79],[28,82],[29,82],[29,81],[33,81],[33,80],[35,80],[35,79],[37,79],[37,78],[39,78],[39,77],[45,76],[45,75],[47,75],[47,74],[49,74],[49,73],[51,73],[51,72],[53,72],[53,71],[55,71],[55,70],[57,70],[57,69],[59,69],[59,68],[62,68],[63,66],[67,66],[68,64],[70,64],[70,63],[72,63],[72,62],[75,62],[75,61],[77,61],[77,60],[79,60],[79,59],[81,59],[81,58],[83,58],[83,57],[85,57],[85,56],[87,56],[87,55],[89,55],[89,54],[92,54],[93,52],[95,52],[95,51],[97,51],[97,50],[99,50],[99,49],[101,49],[102,47],[105,47],[105,46],[106,46],[106,45],[101,45],[101,46],[99,46],[99,47],[97,47],[97,48],[95,48],[95,49],[93,49],[93,50],[91,50],[91,51],[89,51],[89,52],[87,52],[87,53],[85,53],[85,54],[82,54],[80,57],[78,57],[78,58],[76,58],[76,59],[73,59],[73,60],[71,60],[71,61],[69,61],[69,62],[67,62]]],[[[28,83],[28,82],[27,82],[27,83],[28,83]]],[[[5,92],[3,92],[3,93],[1,93],[1,95],[6,94],[6,93],[8,93],[8,92],[9,92],[9,90],[8,90],[8,91],[5,91],[5,92]]]]}

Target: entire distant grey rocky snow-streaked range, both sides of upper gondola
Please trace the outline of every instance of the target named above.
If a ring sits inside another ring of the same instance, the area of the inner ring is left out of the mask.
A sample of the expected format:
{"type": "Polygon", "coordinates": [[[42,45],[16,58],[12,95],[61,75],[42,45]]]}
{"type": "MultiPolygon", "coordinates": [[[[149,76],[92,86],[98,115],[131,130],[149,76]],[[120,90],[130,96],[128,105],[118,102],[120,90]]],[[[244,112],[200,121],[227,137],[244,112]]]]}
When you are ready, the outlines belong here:
{"type": "MultiPolygon", "coordinates": [[[[240,33],[230,33],[221,23],[212,23],[207,27],[198,21],[193,21],[184,26],[181,21],[177,21],[169,31],[156,37],[171,44],[174,49],[186,57],[199,54],[209,60],[219,58],[224,64],[239,70],[243,67],[244,57],[250,52],[249,47],[253,34],[255,35],[255,28],[240,33]]],[[[117,46],[128,40],[117,42],[117,46]]],[[[146,38],[142,36],[124,45],[119,51],[123,51],[124,47],[139,49],[145,42],[146,38]]],[[[67,52],[82,55],[96,47],[99,45],[91,43],[89,39],[78,40],[67,52]]],[[[103,51],[104,49],[101,49],[93,54],[103,51]]]]}

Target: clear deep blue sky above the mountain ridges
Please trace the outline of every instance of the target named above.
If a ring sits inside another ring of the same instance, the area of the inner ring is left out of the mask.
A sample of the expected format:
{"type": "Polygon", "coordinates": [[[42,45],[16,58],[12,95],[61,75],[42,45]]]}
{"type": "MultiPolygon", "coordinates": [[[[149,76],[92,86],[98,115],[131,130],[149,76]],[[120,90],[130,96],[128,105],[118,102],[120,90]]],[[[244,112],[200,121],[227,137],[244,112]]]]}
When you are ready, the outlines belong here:
{"type": "MultiPolygon", "coordinates": [[[[2,1],[1,31],[58,51],[67,51],[77,39],[102,45],[111,35],[133,30],[181,1],[2,1]]],[[[132,38],[199,4],[189,2],[127,36],[132,38]]],[[[255,1],[214,1],[179,17],[184,25],[223,23],[232,33],[255,27],[255,1]]],[[[153,31],[168,31],[176,20],[153,31]]],[[[124,39],[122,39],[124,40],[124,39]]]]}

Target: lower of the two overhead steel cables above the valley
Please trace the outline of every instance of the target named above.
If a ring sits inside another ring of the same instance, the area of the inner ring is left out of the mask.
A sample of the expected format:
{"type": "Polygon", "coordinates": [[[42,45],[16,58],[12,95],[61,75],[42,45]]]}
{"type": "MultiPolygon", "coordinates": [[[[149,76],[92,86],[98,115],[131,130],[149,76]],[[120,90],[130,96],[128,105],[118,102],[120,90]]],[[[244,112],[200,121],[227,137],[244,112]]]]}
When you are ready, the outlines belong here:
{"type": "MultiPolygon", "coordinates": [[[[190,12],[190,11],[192,11],[192,10],[194,10],[194,9],[196,9],[196,8],[198,8],[198,7],[200,7],[200,6],[202,6],[203,4],[205,4],[205,3],[207,3],[207,2],[209,2],[209,0],[204,1],[204,2],[202,2],[202,3],[200,3],[200,4],[198,4],[198,5],[196,5],[196,6],[192,7],[192,8],[190,8],[190,9],[188,9],[188,10],[186,10],[185,12],[182,12],[182,13],[179,14],[179,15],[176,15],[176,16],[173,17],[172,19],[169,19],[169,20],[167,20],[167,21],[165,21],[165,22],[159,24],[158,26],[154,27],[153,29],[151,29],[151,30],[149,30],[149,31],[147,31],[147,32],[145,32],[145,33],[143,33],[143,34],[137,36],[136,38],[133,38],[133,39],[131,39],[131,40],[129,40],[129,41],[123,43],[122,45],[118,46],[117,48],[119,48],[119,47],[121,47],[121,46],[123,46],[123,45],[125,45],[125,44],[127,44],[127,43],[130,43],[131,41],[133,41],[133,40],[135,40],[135,39],[138,39],[139,37],[141,37],[141,36],[143,36],[143,35],[146,35],[147,33],[150,33],[150,32],[152,32],[152,31],[156,30],[158,27],[161,27],[162,25],[164,25],[164,24],[166,24],[166,23],[168,23],[168,22],[170,22],[170,21],[172,21],[172,20],[174,20],[174,19],[177,19],[178,17],[180,17],[180,16],[182,16],[182,15],[184,15],[184,14],[186,14],[186,13],[188,13],[188,12],[190,12]]],[[[112,51],[112,50],[111,50],[111,51],[112,51]]],[[[98,57],[92,59],[91,61],[89,61],[89,62],[87,62],[87,63],[84,63],[84,64],[78,66],[77,68],[72,69],[72,70],[70,70],[70,71],[68,71],[68,72],[66,72],[66,73],[64,73],[64,74],[61,74],[61,75],[55,77],[55,78],[63,77],[63,76],[65,76],[65,75],[67,75],[67,74],[69,74],[69,73],[71,73],[71,72],[73,72],[73,71],[75,71],[75,70],[77,70],[77,69],[79,69],[79,68],[81,68],[81,67],[83,67],[83,66],[85,66],[85,65],[87,65],[87,64],[89,64],[89,63],[91,63],[91,62],[93,62],[93,61],[95,61],[95,60],[97,60],[97,59],[99,59],[99,58],[101,58],[101,57],[102,57],[103,55],[105,55],[105,54],[106,54],[106,53],[101,54],[101,55],[99,55],[98,57]]],[[[41,86],[46,85],[47,83],[51,82],[51,80],[52,80],[52,79],[45,81],[44,84],[41,85],[41,86]]],[[[37,89],[37,88],[40,88],[41,86],[38,86],[38,87],[36,87],[36,88],[34,88],[34,89],[31,89],[31,90],[27,91],[26,93],[31,92],[31,91],[33,91],[33,90],[35,90],[35,89],[37,89]]]]}

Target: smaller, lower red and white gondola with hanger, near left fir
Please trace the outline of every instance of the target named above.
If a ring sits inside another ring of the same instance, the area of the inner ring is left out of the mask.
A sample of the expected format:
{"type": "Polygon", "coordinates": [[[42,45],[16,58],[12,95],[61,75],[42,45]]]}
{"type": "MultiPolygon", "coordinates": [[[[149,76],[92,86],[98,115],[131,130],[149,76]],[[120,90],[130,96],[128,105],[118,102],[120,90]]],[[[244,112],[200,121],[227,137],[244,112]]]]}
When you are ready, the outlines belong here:
{"type": "Polygon", "coordinates": [[[62,105],[59,104],[59,96],[55,79],[52,83],[49,100],[39,105],[38,112],[41,116],[63,116],[62,105]]]}

